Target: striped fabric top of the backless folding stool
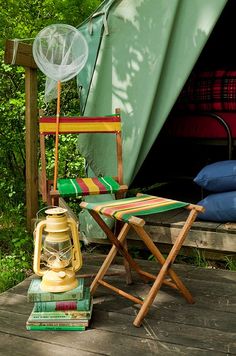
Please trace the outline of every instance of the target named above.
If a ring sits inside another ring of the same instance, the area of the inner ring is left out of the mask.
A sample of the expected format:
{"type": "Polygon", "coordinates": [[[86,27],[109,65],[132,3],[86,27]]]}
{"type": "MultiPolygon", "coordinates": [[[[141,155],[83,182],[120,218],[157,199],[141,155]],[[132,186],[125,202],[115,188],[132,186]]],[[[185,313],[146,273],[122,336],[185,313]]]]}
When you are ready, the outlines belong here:
{"type": "Polygon", "coordinates": [[[102,203],[85,203],[81,207],[94,210],[99,214],[129,222],[133,216],[150,215],[174,210],[189,205],[189,203],[160,198],[152,195],[139,195],[134,198],[110,200],[102,203]]]}

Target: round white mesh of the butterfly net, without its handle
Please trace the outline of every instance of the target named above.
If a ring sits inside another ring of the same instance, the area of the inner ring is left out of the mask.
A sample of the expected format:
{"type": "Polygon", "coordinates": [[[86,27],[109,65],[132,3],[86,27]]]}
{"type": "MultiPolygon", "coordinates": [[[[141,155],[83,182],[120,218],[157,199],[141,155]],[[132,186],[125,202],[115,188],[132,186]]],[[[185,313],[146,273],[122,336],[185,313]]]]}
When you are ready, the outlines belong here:
{"type": "Polygon", "coordinates": [[[88,45],[75,27],[55,24],[38,33],[33,43],[33,56],[39,69],[50,78],[47,79],[45,90],[50,98],[55,96],[57,81],[70,80],[84,67],[88,45]]]}

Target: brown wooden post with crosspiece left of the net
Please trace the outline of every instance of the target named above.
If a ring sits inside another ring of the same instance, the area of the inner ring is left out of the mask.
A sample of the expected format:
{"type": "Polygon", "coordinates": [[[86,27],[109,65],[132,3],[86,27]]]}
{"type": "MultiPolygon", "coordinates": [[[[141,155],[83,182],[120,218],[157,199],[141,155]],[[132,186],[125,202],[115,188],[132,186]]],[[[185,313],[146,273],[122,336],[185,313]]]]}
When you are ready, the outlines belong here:
{"type": "Polygon", "coordinates": [[[32,55],[32,46],[7,40],[5,45],[6,64],[25,68],[26,100],[26,209],[27,229],[32,230],[32,221],[38,211],[38,105],[37,105],[37,65],[32,55]],[[15,50],[16,49],[16,50],[15,50]]]}

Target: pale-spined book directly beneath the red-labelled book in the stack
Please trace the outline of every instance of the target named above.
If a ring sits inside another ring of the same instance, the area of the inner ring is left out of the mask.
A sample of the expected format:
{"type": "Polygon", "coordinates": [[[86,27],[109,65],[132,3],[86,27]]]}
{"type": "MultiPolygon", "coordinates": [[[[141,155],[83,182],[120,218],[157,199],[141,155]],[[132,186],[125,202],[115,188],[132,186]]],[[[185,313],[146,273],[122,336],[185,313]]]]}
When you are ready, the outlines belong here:
{"type": "Polygon", "coordinates": [[[93,302],[90,303],[88,310],[55,310],[55,311],[36,311],[35,306],[30,314],[29,321],[42,320],[83,320],[91,319],[93,302]]]}

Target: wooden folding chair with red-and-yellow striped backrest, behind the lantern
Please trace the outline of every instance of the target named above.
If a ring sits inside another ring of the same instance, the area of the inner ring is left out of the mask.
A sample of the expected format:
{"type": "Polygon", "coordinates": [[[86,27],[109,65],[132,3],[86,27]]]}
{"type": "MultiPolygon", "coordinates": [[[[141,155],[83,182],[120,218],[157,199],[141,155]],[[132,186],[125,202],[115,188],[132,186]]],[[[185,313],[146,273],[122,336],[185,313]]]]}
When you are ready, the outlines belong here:
{"type": "MultiPolygon", "coordinates": [[[[60,118],[59,134],[112,134],[116,139],[117,176],[91,178],[57,178],[56,189],[53,179],[46,174],[45,137],[56,134],[56,117],[41,117],[39,120],[40,151],[41,151],[41,193],[44,202],[57,204],[58,198],[80,197],[97,194],[115,194],[123,197],[127,185],[123,184],[122,141],[120,110],[109,116],[98,117],[62,117],[60,118]]],[[[102,159],[102,157],[101,157],[102,159]]]]}

